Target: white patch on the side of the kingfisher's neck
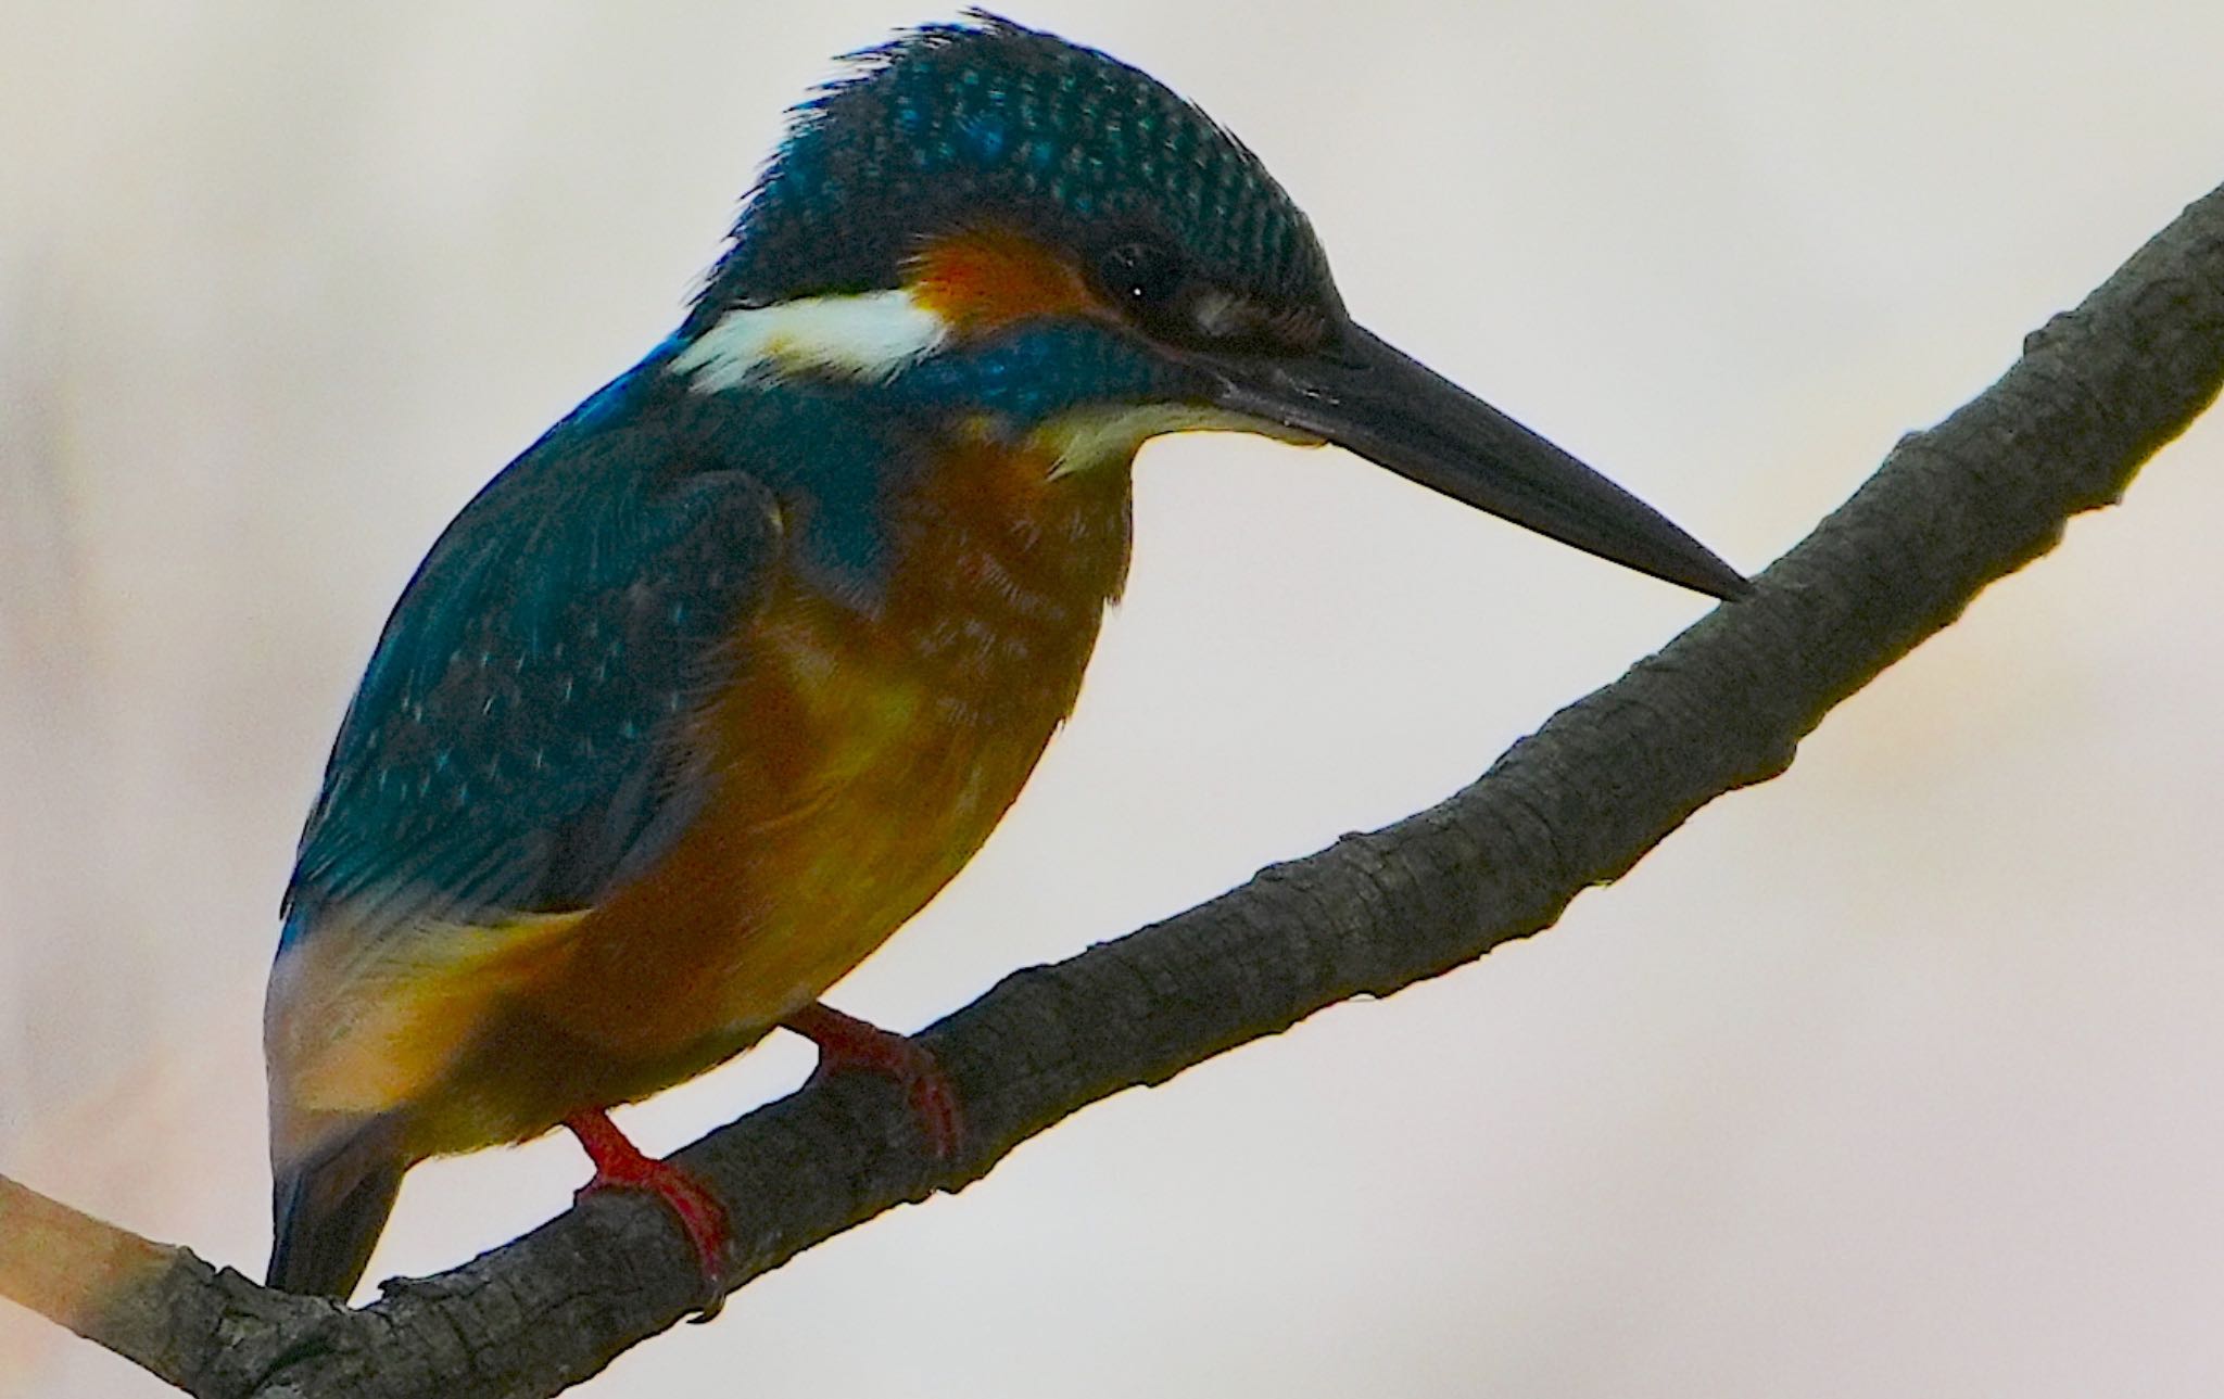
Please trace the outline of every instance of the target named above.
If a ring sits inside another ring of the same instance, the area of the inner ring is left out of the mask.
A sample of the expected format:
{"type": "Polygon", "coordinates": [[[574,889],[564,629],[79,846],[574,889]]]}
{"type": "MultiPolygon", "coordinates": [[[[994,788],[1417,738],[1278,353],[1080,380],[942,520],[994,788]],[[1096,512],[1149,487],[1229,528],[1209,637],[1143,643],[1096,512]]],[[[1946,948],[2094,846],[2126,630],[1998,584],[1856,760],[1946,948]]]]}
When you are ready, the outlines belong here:
{"type": "Polygon", "coordinates": [[[672,358],[696,394],[794,374],[890,378],[950,340],[950,325],[910,289],[805,296],[727,311],[672,358]]]}

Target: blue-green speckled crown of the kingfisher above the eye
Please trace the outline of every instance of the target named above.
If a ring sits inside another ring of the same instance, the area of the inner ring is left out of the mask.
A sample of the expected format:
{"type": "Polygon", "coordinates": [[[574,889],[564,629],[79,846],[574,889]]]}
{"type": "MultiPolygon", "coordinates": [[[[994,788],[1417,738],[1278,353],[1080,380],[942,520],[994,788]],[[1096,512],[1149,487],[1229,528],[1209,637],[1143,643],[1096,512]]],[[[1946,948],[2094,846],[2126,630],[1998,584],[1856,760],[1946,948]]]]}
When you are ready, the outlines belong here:
{"type": "Polygon", "coordinates": [[[852,71],[796,111],[698,323],[732,305],[894,285],[890,269],[921,238],[983,207],[1052,247],[1148,225],[1263,302],[1334,298],[1305,216],[1199,107],[1105,53],[981,16],[852,56],[852,71]],[[825,238],[830,227],[843,236],[825,238]]]}

